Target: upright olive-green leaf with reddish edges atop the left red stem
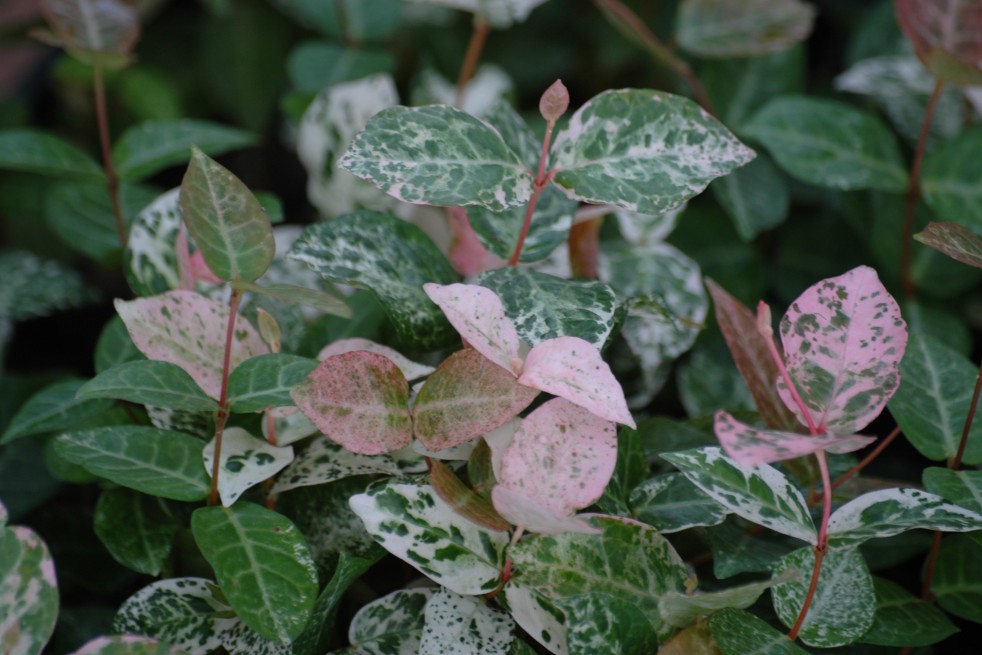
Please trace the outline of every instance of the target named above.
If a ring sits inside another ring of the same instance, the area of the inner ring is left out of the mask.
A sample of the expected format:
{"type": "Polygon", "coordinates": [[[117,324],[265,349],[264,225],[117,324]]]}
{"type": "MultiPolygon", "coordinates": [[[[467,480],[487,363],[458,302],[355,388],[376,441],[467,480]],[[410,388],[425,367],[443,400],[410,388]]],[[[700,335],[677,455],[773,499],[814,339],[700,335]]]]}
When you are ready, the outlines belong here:
{"type": "Polygon", "coordinates": [[[199,150],[181,182],[181,211],[208,268],[219,278],[252,282],[276,252],[273,227],[239,178],[199,150]]]}

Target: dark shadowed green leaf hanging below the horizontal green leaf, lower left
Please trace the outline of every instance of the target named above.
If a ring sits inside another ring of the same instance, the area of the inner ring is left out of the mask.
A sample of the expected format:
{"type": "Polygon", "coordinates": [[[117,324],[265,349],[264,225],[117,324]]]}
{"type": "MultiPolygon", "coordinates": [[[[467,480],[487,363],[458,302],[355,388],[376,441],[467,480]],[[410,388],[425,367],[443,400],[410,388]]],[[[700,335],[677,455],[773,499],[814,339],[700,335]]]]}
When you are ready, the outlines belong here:
{"type": "Polygon", "coordinates": [[[137,573],[157,576],[182,526],[166,501],[117,487],[99,496],[92,527],[113,559],[137,573]]]}

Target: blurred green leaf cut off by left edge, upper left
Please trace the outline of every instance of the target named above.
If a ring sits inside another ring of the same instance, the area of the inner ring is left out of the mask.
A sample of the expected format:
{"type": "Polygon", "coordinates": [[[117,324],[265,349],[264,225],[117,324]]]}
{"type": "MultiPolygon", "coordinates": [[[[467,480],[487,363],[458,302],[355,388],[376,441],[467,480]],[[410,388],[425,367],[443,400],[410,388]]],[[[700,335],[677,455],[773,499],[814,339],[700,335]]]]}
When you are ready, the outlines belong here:
{"type": "Polygon", "coordinates": [[[30,129],[0,132],[0,169],[62,179],[103,178],[102,168],[88,154],[59,137],[30,129]]]}

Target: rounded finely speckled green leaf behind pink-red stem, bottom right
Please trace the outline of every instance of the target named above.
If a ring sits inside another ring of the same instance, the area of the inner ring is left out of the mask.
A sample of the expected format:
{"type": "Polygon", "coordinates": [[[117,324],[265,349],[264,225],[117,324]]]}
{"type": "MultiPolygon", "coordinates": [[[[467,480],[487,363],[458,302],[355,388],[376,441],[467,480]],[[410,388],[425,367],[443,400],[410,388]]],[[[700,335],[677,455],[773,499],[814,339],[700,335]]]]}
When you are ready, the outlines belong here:
{"type": "MultiPolygon", "coordinates": [[[[788,627],[794,625],[801,612],[814,567],[815,553],[811,548],[793,551],[775,567],[779,576],[790,569],[797,569],[800,574],[797,580],[771,588],[774,611],[788,627]]],[[[875,613],[873,578],[862,554],[855,548],[832,549],[822,560],[822,575],[798,636],[817,648],[851,644],[873,625],[875,613]]]]}

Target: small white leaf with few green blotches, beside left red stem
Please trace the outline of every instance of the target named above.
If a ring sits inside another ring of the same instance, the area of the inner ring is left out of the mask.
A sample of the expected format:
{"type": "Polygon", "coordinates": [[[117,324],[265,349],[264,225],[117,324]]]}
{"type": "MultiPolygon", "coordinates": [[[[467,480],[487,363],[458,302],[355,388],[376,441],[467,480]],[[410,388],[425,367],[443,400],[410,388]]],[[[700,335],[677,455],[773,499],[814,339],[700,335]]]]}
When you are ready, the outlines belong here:
{"type": "MultiPolygon", "coordinates": [[[[205,446],[203,455],[205,470],[211,473],[215,462],[214,439],[205,446]]],[[[226,428],[221,460],[218,493],[222,505],[230,507],[248,489],[273,477],[293,461],[293,448],[278,448],[242,428],[226,428]]]]}

